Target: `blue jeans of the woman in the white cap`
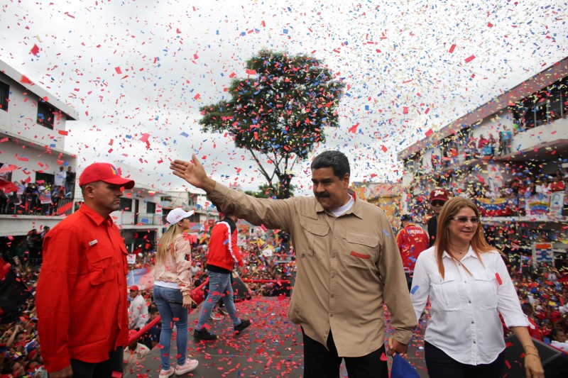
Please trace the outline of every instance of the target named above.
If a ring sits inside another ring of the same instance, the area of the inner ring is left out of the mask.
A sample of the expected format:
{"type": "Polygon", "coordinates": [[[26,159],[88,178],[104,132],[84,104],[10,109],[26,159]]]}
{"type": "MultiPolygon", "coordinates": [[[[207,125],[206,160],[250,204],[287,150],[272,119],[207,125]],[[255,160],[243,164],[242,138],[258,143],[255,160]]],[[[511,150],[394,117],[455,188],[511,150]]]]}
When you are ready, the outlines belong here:
{"type": "Polygon", "coordinates": [[[162,362],[162,369],[168,370],[170,369],[170,341],[173,323],[175,323],[175,328],[178,330],[178,337],[175,340],[178,346],[178,365],[185,364],[185,354],[187,353],[187,308],[183,308],[180,304],[169,302],[183,301],[180,289],[154,285],[154,301],[162,318],[160,345],[163,348],[160,353],[160,361],[162,362]]]}

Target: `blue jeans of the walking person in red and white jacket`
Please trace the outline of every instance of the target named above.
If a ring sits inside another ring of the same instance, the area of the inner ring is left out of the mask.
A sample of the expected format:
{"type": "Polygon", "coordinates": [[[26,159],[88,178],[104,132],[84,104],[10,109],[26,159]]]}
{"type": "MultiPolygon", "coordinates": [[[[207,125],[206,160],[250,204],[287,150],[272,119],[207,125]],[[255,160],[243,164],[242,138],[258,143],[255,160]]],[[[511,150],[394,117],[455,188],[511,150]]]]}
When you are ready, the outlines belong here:
{"type": "Polygon", "coordinates": [[[236,315],[233,287],[231,286],[231,274],[211,272],[210,270],[208,270],[207,273],[209,273],[209,295],[207,299],[203,301],[200,320],[197,321],[197,327],[195,329],[202,330],[205,323],[207,323],[207,319],[211,316],[214,306],[219,301],[219,298],[223,299],[226,312],[229,313],[233,321],[233,326],[239,326],[241,319],[236,315]]]}

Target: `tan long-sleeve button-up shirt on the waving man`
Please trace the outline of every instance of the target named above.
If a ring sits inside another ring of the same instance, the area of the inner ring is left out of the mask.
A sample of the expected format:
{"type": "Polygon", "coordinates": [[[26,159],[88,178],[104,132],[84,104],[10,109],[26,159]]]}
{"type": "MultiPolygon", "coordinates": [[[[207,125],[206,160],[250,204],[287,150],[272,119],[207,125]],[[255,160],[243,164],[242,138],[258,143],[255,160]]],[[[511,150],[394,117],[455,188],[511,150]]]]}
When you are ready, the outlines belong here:
{"type": "Polygon", "coordinates": [[[408,344],[417,325],[403,262],[385,213],[355,198],[342,216],[315,197],[257,199],[217,182],[208,198],[225,213],[290,233],[297,257],[288,318],[340,357],[361,357],[384,343],[383,301],[394,338],[408,344]]]}

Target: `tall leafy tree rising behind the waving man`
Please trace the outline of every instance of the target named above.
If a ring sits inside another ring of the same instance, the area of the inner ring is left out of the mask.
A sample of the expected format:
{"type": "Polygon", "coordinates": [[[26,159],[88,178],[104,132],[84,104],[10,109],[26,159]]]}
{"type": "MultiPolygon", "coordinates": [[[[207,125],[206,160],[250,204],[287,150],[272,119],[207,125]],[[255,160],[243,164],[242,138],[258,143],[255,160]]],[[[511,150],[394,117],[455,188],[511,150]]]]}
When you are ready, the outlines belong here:
{"type": "Polygon", "coordinates": [[[292,169],[317,143],[324,127],[337,127],[344,82],[308,55],[262,50],[246,62],[246,79],[235,78],[231,99],[200,108],[202,130],[229,133],[251,152],[279,199],[291,195],[292,169]]]}

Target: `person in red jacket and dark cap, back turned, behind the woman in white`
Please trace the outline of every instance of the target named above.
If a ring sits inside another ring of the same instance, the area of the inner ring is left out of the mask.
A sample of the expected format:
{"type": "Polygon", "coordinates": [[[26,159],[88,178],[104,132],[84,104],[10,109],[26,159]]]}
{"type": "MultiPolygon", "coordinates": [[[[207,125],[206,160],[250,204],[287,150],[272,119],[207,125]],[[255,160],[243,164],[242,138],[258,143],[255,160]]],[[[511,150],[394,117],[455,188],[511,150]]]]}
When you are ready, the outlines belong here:
{"type": "Polygon", "coordinates": [[[410,284],[412,283],[411,273],[414,272],[416,259],[420,252],[428,248],[430,240],[428,240],[428,234],[425,230],[415,226],[410,215],[405,214],[401,216],[400,221],[403,223],[403,228],[396,235],[396,244],[398,244],[400,257],[403,257],[406,282],[408,283],[408,289],[410,289],[410,284]]]}

